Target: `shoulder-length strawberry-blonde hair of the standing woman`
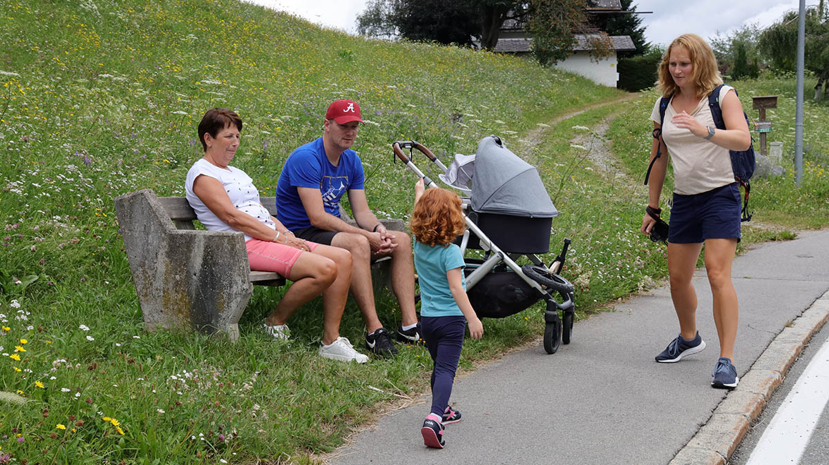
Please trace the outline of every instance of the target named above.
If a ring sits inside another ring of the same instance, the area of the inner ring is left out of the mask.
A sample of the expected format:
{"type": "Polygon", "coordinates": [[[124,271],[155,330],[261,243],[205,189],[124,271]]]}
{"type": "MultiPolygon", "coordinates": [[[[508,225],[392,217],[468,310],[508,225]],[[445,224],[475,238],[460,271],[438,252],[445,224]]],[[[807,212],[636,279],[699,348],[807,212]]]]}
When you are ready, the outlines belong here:
{"type": "Polygon", "coordinates": [[[711,50],[711,47],[702,40],[702,37],[696,34],[682,34],[671,42],[668,50],[665,50],[665,55],[662,56],[662,61],[659,63],[659,83],[657,84],[657,89],[662,93],[662,97],[667,97],[679,89],[671,76],[671,70],[668,68],[671,61],[671,50],[676,46],[683,46],[688,50],[691,63],[694,65],[694,74],[691,75],[691,82],[696,85],[697,92],[699,92],[699,95],[695,97],[708,95],[716,86],[723,84],[720,70],[717,69],[714,50],[711,50]]]}

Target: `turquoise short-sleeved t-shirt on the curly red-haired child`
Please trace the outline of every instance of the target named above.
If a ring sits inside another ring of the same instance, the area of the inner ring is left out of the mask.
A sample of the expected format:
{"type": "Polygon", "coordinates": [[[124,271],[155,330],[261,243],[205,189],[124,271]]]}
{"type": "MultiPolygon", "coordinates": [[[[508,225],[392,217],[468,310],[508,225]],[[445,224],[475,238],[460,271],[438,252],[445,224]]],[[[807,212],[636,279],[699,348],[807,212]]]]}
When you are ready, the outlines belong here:
{"type": "MultiPolygon", "coordinates": [[[[428,246],[423,242],[414,242],[414,267],[417,269],[420,284],[420,314],[422,316],[454,316],[463,312],[458,308],[446,272],[463,268],[461,248],[455,244],[448,246],[428,246]]],[[[466,278],[461,270],[461,284],[466,289],[466,278]]]]}

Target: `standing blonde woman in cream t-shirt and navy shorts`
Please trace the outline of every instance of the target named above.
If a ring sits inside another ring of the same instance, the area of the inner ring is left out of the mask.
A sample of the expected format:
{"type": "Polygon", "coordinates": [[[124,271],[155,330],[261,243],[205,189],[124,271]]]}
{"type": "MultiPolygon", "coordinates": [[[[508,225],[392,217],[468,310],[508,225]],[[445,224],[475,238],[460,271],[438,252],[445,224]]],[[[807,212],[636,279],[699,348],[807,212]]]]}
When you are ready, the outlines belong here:
{"type": "Polygon", "coordinates": [[[651,114],[652,182],[641,232],[650,234],[661,213],[659,197],[667,157],[653,159],[657,157],[657,150],[669,152],[675,182],[667,260],[671,299],[680,333],[656,360],[679,362],[682,357],[705,348],[696,330],[696,290],[691,283],[705,245],[705,271],[714,296],[714,321],[720,338],[720,359],[715,365],[711,386],[734,388],[739,382],[734,368],[738,303],[731,281],[731,264],[740,237],[740,195],[729,151],[747,150],[751,136],[743,107],[730,86],[722,86],[719,95],[725,130],[714,127],[708,94],[720,84],[723,81],[714,53],[700,36],[684,34],[671,42],[659,65],[658,89],[662,97],[672,95],[672,98],[664,126],[661,126],[659,108],[661,98],[657,99],[651,114]]]}

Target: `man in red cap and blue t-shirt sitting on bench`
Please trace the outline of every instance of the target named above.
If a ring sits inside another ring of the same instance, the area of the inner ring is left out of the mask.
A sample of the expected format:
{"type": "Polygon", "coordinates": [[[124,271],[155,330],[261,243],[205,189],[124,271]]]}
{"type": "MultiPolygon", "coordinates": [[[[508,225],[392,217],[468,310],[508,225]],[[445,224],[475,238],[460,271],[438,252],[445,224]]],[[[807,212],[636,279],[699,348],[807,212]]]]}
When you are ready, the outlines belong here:
{"type": "Polygon", "coordinates": [[[414,311],[414,264],[409,235],[386,231],[366,202],[363,166],[351,150],[361,122],[356,102],[331,103],[322,122],[322,137],[300,146],[285,161],[276,188],[277,218],[299,238],[351,252],[351,293],[366,322],[366,346],[389,356],[397,349],[377,318],[371,260],[391,257],[391,287],[402,314],[397,338],[408,343],[420,338],[414,311]],[[358,228],[340,218],[343,194],[348,194],[358,228]]]}

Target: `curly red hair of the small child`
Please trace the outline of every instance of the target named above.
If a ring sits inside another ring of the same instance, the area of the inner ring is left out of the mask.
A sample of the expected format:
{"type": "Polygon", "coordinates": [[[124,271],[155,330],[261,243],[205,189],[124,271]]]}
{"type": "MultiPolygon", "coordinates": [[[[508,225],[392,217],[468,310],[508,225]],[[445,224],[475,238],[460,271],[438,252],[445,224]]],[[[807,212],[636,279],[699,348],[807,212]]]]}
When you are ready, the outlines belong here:
{"type": "Polygon", "coordinates": [[[409,227],[417,242],[429,246],[452,243],[466,227],[461,199],[447,189],[426,189],[414,204],[409,227]]]}

